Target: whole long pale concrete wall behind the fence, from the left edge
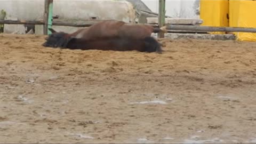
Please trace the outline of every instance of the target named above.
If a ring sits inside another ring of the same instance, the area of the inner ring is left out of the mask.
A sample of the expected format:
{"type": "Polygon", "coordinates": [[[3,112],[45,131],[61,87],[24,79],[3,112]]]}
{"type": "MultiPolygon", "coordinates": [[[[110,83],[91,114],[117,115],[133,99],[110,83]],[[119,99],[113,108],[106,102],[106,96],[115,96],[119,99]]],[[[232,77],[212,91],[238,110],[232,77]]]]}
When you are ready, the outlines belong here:
{"type": "MultiPolygon", "coordinates": [[[[6,19],[9,20],[43,20],[44,0],[0,0],[0,10],[2,9],[6,11],[6,19]]],[[[90,20],[91,17],[97,17],[101,20],[115,19],[135,22],[136,18],[131,3],[111,0],[55,0],[53,1],[54,15],[59,15],[59,19],[68,20],[90,20]]],[[[41,29],[41,27],[38,28],[41,29]]],[[[58,29],[58,27],[55,28],[58,29]]],[[[76,29],[67,27],[63,31],[70,32],[76,29]]],[[[5,25],[5,32],[15,31],[25,33],[20,26],[5,25]]]]}

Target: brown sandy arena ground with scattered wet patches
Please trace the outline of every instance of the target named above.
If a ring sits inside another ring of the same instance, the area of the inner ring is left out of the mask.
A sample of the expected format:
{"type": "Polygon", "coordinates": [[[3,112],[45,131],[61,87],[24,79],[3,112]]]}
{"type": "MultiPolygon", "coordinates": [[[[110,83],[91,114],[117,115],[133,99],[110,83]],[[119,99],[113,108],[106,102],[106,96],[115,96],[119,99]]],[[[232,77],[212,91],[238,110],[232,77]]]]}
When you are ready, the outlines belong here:
{"type": "Polygon", "coordinates": [[[161,39],[163,54],[0,35],[0,143],[256,143],[256,43],[161,39]]]}

